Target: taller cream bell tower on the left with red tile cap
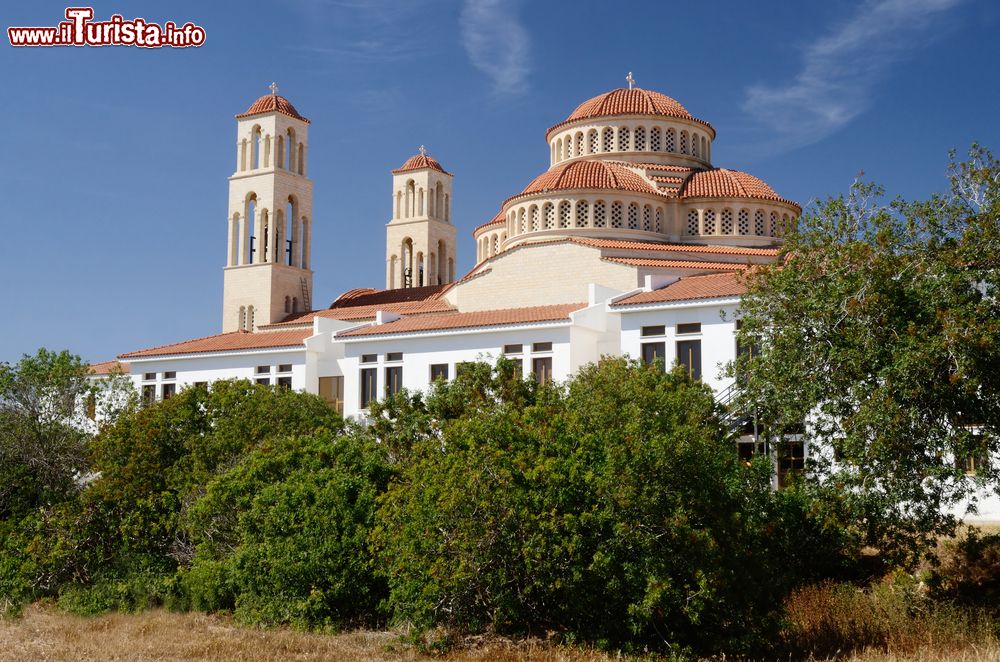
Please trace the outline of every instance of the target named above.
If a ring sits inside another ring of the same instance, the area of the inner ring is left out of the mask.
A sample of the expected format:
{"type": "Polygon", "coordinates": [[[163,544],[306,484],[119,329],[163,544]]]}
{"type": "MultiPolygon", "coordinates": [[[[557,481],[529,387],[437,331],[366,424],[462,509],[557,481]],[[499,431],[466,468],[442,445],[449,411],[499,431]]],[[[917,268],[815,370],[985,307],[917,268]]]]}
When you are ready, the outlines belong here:
{"type": "Polygon", "coordinates": [[[309,120],[270,85],[236,116],[222,330],[254,331],[312,306],[309,120]]]}

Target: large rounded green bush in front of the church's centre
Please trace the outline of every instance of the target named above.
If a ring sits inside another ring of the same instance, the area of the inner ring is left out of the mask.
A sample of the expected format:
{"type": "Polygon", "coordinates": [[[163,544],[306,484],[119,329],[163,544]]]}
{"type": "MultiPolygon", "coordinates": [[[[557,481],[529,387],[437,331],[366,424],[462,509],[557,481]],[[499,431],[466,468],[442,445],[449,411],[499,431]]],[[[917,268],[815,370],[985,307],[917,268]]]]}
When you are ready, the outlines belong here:
{"type": "Polygon", "coordinates": [[[737,460],[711,392],[682,371],[606,359],[568,389],[511,379],[483,366],[426,406],[407,400],[411,420],[383,420],[383,434],[390,420],[426,431],[373,535],[397,620],[752,650],[807,561],[776,556],[795,532],[820,560],[840,552],[766,468],[737,460]]]}

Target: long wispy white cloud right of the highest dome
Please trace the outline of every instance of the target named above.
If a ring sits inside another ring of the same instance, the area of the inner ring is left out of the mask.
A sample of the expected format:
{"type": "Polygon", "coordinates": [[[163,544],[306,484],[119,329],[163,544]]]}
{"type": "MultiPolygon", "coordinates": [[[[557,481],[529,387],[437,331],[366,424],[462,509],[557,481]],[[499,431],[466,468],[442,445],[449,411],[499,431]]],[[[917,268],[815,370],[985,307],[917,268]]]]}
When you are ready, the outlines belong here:
{"type": "Polygon", "coordinates": [[[749,87],[743,108],[778,136],[775,151],[821,140],[863,113],[892,66],[940,34],[963,1],[866,0],[804,49],[792,80],[749,87]]]}

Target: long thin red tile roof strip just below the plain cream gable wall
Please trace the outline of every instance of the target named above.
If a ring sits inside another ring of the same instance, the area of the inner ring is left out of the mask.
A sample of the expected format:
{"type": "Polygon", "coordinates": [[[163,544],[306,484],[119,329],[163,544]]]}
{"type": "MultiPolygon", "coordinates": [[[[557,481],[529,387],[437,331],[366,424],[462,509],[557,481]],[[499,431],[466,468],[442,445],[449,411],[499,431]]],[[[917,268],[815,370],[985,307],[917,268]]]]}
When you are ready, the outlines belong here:
{"type": "Polygon", "coordinates": [[[469,313],[453,313],[451,315],[425,315],[421,317],[404,317],[395,322],[366,326],[344,333],[337,337],[381,336],[397,333],[418,333],[421,331],[442,331],[446,329],[466,329],[480,326],[506,326],[512,324],[530,324],[534,322],[554,322],[569,318],[574,310],[585,308],[585,303],[566,303],[552,306],[533,306],[529,308],[506,308],[503,310],[479,310],[469,313]]]}

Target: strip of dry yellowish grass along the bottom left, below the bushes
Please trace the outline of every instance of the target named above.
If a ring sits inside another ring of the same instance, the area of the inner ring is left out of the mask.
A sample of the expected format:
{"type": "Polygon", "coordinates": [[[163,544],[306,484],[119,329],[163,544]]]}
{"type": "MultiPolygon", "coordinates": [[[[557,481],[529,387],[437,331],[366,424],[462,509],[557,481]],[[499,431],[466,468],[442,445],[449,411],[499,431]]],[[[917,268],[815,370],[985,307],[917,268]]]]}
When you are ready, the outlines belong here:
{"type": "Polygon", "coordinates": [[[28,660],[380,660],[443,659],[455,662],[610,662],[607,655],[544,642],[480,640],[467,650],[429,658],[391,632],[309,634],[256,630],[220,616],[162,610],[139,615],[71,616],[35,604],[14,620],[0,619],[0,661],[28,660]]]}

